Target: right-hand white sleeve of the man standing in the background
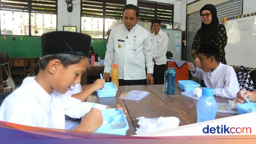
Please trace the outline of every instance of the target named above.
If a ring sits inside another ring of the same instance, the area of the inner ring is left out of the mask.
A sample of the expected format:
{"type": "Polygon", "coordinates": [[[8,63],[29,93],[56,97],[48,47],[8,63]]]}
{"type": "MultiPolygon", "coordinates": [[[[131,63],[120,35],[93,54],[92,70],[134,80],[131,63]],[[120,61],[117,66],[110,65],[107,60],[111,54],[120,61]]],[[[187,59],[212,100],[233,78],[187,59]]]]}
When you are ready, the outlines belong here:
{"type": "Polygon", "coordinates": [[[153,52],[153,58],[156,59],[157,57],[161,57],[163,55],[166,55],[167,48],[168,48],[168,42],[169,38],[168,35],[165,33],[163,35],[163,39],[161,40],[161,47],[153,52]]]}

